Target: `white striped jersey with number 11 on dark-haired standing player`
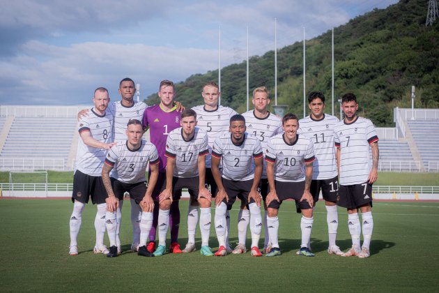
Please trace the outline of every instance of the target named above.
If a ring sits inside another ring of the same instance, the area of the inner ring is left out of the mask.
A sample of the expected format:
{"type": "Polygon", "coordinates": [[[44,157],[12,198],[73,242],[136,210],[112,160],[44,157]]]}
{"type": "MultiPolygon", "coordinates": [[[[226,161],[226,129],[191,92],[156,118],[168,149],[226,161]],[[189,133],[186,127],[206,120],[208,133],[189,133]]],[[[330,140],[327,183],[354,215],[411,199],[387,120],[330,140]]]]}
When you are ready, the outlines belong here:
{"type": "Polygon", "coordinates": [[[312,179],[331,179],[338,175],[337,158],[335,158],[334,126],[339,122],[335,116],[323,114],[323,119],[314,120],[311,116],[299,120],[298,133],[314,142],[312,179]]]}

